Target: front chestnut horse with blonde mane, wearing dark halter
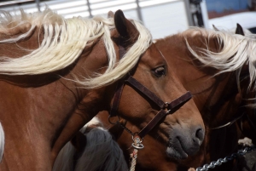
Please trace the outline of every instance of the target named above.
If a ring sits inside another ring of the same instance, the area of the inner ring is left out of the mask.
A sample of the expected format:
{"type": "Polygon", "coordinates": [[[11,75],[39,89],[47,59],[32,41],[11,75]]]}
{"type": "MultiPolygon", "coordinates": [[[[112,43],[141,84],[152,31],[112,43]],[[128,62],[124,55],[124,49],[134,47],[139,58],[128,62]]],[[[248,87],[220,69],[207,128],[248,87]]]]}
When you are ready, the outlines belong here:
{"type": "Polygon", "coordinates": [[[121,10],[111,19],[20,12],[3,11],[0,19],[0,170],[50,170],[99,111],[118,111],[141,136],[152,129],[163,144],[178,135],[166,147],[170,155],[198,151],[200,112],[139,22],[121,10]],[[176,99],[178,110],[165,103],[176,99]],[[180,145],[186,149],[173,147],[180,145]]]}

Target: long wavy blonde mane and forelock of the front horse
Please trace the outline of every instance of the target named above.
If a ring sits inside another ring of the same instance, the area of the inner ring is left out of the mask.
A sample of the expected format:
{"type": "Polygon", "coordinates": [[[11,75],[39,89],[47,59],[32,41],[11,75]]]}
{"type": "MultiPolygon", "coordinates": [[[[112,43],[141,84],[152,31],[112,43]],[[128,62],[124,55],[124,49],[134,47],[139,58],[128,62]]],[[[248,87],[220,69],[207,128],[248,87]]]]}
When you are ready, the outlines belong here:
{"type": "Polygon", "coordinates": [[[12,35],[22,32],[19,37],[1,40],[1,43],[16,43],[31,36],[36,28],[44,30],[44,39],[39,48],[20,58],[0,57],[0,73],[6,75],[38,75],[59,71],[73,64],[86,45],[90,45],[98,37],[102,37],[108,54],[108,69],[103,74],[95,73],[93,77],[79,80],[84,88],[99,88],[124,77],[136,66],[139,57],[151,43],[150,32],[136,20],[131,20],[140,33],[137,43],[130,48],[124,58],[116,62],[116,54],[110,31],[114,28],[113,18],[96,16],[93,19],[74,17],[64,19],[51,9],[42,13],[26,14],[20,10],[20,15],[12,16],[2,11],[0,17],[0,33],[12,35]]]}

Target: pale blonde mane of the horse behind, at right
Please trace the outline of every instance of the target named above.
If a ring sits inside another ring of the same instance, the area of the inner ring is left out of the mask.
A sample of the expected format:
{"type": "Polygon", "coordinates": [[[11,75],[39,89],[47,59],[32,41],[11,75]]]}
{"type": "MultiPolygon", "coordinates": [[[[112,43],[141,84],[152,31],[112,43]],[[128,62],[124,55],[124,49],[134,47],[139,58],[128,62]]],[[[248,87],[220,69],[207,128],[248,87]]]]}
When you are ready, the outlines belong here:
{"type": "Polygon", "coordinates": [[[219,70],[218,74],[228,71],[237,72],[237,81],[241,67],[247,65],[250,75],[250,86],[255,82],[256,78],[256,39],[255,35],[247,34],[241,36],[230,31],[213,31],[203,28],[191,28],[184,31],[184,37],[192,34],[192,37],[201,35],[205,37],[207,48],[199,48],[199,51],[192,49],[186,39],[189,51],[200,60],[205,66],[212,66],[219,70]],[[216,37],[220,51],[212,52],[208,49],[208,41],[210,38],[216,37]],[[197,52],[196,52],[197,51],[197,52]],[[200,52],[202,55],[199,55],[200,52]]]}

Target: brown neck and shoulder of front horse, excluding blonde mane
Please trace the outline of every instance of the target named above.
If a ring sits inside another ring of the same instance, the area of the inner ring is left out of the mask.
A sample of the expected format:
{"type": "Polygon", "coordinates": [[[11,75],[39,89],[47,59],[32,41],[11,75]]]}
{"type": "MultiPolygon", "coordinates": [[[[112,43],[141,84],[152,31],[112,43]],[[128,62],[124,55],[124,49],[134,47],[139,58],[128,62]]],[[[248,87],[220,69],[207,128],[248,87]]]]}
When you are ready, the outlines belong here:
{"type": "MultiPolygon", "coordinates": [[[[15,58],[30,53],[22,48],[38,48],[37,35],[34,33],[17,44],[1,44],[1,56],[15,58]]],[[[85,90],[67,80],[74,79],[73,75],[79,77],[84,76],[84,72],[99,71],[108,64],[107,55],[102,53],[105,49],[103,43],[96,43],[90,48],[84,50],[74,66],[60,72],[40,76],[0,76],[3,99],[0,101],[0,120],[6,135],[6,162],[0,170],[5,170],[4,167],[9,170],[50,170],[56,154],[69,137],[102,110],[97,104],[108,104],[107,100],[102,101],[104,88],[85,90]],[[60,75],[67,79],[60,78],[60,75]],[[51,77],[53,79],[49,80],[51,77]],[[41,162],[31,165],[33,161],[41,162]]]]}

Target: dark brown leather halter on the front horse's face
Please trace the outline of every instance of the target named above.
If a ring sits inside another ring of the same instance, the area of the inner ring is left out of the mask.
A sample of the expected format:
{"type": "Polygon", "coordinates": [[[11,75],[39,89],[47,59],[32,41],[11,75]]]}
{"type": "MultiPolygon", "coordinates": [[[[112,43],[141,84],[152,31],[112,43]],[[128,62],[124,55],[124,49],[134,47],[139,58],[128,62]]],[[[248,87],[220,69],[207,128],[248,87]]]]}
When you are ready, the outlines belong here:
{"type": "MultiPolygon", "coordinates": [[[[124,53],[125,48],[119,45],[120,59],[123,57],[124,53]]],[[[108,118],[118,116],[119,101],[121,99],[122,91],[125,87],[125,84],[129,84],[131,88],[137,89],[140,93],[147,96],[148,99],[152,100],[155,105],[158,105],[160,107],[160,111],[154,116],[154,118],[139,133],[137,133],[138,136],[142,139],[146,134],[148,134],[148,132],[152,128],[154,128],[157,123],[160,122],[163,117],[166,117],[166,115],[172,114],[174,111],[177,111],[179,107],[184,105],[192,98],[192,94],[190,92],[187,92],[170,103],[164,102],[156,94],[146,88],[142,83],[139,83],[137,79],[129,75],[127,79],[119,80],[115,94],[113,95],[113,104],[111,106],[108,118]]],[[[129,133],[131,133],[131,131],[129,133]]]]}

